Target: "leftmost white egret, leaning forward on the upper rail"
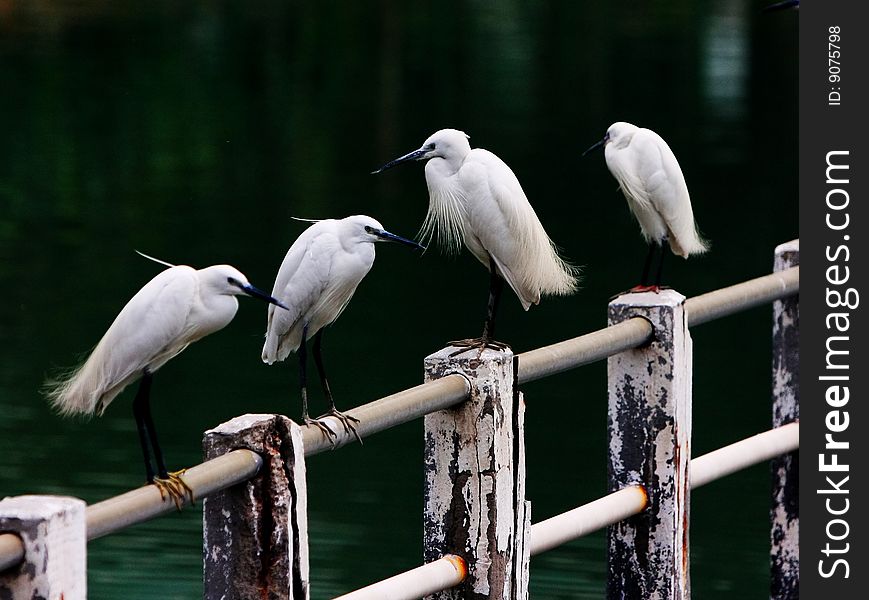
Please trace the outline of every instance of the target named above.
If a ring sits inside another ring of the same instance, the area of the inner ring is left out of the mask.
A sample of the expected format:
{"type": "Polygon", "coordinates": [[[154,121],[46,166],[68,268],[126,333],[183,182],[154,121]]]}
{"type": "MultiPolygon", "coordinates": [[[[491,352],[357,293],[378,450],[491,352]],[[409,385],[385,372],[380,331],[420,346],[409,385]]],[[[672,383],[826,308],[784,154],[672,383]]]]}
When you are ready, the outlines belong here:
{"type": "MultiPolygon", "coordinates": [[[[147,257],[150,258],[150,257],[147,257]]],[[[152,259],[156,260],[156,259],[152,259]]],[[[133,415],[145,459],[148,483],[168,493],[180,508],[192,491],[163,462],[151,418],[154,373],[196,340],[223,329],[238,310],[235,296],[246,294],[280,303],[253,287],[237,269],[214,265],[204,269],[156,261],[170,268],[160,272],[127,302],[90,356],[78,368],[45,385],[52,406],[63,416],[102,415],[124,388],[140,379],[133,415]],[[150,449],[157,464],[151,465],[150,449]]]]}

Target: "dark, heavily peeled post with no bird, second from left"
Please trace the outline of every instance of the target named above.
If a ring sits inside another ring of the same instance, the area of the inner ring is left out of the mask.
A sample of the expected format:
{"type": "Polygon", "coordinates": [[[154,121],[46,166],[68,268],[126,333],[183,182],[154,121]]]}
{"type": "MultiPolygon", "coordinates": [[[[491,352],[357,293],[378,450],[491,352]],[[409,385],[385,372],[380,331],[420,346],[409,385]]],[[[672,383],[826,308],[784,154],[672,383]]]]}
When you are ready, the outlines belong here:
{"type": "Polygon", "coordinates": [[[244,415],[205,432],[206,459],[247,448],[262,456],[253,479],[203,501],[204,597],[309,597],[305,453],[298,425],[244,415]]]}

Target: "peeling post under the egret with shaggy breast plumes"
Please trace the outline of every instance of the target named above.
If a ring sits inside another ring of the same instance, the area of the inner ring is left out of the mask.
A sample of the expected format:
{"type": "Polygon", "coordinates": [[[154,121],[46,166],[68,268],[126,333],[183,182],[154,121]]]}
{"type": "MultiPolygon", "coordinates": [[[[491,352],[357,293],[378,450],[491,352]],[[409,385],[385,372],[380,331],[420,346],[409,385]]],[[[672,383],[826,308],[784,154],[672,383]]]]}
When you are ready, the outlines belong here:
{"type": "Polygon", "coordinates": [[[456,350],[425,360],[426,381],[460,373],[471,394],[425,417],[424,557],[457,554],[467,561],[468,577],[430,598],[524,599],[531,522],[515,360],[509,350],[451,357],[456,350]]]}

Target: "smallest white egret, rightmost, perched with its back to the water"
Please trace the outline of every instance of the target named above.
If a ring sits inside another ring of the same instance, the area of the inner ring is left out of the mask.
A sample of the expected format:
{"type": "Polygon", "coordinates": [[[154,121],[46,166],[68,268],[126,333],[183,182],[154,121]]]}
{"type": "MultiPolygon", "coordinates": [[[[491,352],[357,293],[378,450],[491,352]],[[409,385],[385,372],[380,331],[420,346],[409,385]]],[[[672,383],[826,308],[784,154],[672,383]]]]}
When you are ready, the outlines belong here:
{"type": "Polygon", "coordinates": [[[610,125],[604,138],[583,152],[583,156],[600,146],[604,146],[607,167],[619,182],[628,207],[649,244],[640,284],[631,291],[657,291],[661,284],[665,241],[670,243],[673,254],[683,258],[708,249],[694,223],[682,169],[661,136],[630,123],[610,125]],[[655,283],[650,285],[649,270],[656,247],[660,247],[661,256],[655,283]]]}

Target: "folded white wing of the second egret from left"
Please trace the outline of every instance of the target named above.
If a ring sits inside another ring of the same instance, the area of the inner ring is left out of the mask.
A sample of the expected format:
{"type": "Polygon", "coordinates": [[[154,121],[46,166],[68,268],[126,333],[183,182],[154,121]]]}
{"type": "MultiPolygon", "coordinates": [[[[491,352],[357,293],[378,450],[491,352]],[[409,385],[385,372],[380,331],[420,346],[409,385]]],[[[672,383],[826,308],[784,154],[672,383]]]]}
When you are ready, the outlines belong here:
{"type": "MultiPolygon", "coordinates": [[[[299,347],[303,320],[322,297],[332,272],[331,256],[340,247],[338,238],[328,231],[305,230],[284,257],[272,296],[289,310],[269,305],[266,341],[262,359],[269,364],[284,360],[299,347]]],[[[309,331],[309,336],[314,331],[309,331]]]]}

